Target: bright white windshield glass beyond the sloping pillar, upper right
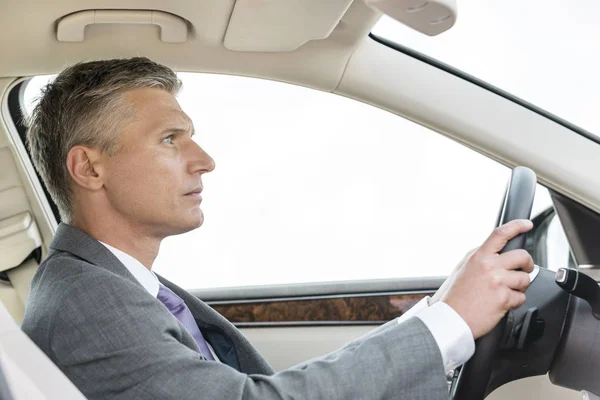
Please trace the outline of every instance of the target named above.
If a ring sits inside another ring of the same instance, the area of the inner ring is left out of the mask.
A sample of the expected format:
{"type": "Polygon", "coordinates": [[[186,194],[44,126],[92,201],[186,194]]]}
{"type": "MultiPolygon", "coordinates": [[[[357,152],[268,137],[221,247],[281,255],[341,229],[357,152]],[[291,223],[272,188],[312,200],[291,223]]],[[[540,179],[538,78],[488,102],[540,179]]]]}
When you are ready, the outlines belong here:
{"type": "Polygon", "coordinates": [[[600,1],[461,0],[435,37],[387,17],[376,36],[409,47],[600,136],[600,1]]]}

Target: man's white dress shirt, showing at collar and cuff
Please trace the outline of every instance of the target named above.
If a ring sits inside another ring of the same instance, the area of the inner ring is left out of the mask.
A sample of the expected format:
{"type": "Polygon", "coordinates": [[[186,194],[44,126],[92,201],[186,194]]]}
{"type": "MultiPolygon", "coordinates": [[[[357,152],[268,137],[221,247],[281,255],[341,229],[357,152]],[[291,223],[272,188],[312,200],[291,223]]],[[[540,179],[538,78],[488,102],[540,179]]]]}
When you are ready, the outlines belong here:
{"type": "MultiPolygon", "coordinates": [[[[106,243],[100,243],[121,261],[148,293],[154,297],[158,295],[160,282],[154,272],[129,254],[106,243]]],[[[437,302],[429,307],[429,297],[426,297],[398,318],[398,323],[402,323],[412,317],[418,317],[423,321],[433,335],[440,348],[446,372],[450,372],[454,368],[464,364],[473,355],[475,342],[471,329],[461,316],[446,303],[437,302]]],[[[210,344],[208,344],[208,347],[215,360],[218,360],[210,344]]]]}

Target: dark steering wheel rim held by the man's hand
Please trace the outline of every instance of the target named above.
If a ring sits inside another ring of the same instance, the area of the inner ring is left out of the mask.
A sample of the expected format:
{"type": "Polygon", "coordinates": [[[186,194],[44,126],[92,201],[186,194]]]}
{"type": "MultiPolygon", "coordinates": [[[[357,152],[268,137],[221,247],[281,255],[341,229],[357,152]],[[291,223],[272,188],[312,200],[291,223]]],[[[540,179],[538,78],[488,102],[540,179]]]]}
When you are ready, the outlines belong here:
{"type": "MultiPolygon", "coordinates": [[[[504,225],[515,219],[529,219],[533,198],[535,196],[537,178],[529,168],[516,167],[508,184],[502,211],[497,225],[504,225]]],[[[500,253],[523,249],[525,235],[510,240],[500,253]]],[[[475,343],[475,354],[458,371],[450,388],[452,400],[482,400],[488,395],[488,384],[492,376],[496,353],[505,336],[506,316],[487,335],[475,343]]]]}

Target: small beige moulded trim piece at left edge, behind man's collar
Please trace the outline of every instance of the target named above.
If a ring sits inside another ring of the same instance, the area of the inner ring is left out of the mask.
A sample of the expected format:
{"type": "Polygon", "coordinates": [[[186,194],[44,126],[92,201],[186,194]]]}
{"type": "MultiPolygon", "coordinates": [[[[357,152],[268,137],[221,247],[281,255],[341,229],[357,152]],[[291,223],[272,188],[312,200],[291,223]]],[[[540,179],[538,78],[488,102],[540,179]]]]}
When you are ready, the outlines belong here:
{"type": "Polygon", "coordinates": [[[19,266],[42,238],[29,212],[0,220],[0,272],[19,266]]]}

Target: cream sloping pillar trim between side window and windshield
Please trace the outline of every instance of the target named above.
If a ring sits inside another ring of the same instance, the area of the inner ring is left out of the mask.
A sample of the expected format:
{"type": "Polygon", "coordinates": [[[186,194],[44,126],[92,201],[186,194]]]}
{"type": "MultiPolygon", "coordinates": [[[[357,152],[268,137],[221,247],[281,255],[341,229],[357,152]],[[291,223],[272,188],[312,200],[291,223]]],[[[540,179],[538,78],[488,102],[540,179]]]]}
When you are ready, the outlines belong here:
{"type": "Polygon", "coordinates": [[[532,168],[541,183],[600,212],[600,146],[486,89],[365,38],[335,93],[532,168]]]}

